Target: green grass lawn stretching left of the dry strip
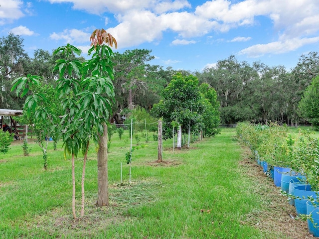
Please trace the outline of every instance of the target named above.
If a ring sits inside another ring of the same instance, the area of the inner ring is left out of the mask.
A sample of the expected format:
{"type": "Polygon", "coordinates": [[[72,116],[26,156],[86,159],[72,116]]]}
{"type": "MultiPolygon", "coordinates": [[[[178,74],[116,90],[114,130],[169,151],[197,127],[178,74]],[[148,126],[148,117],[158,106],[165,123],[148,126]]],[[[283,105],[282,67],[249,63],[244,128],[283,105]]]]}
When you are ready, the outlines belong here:
{"type": "MultiPolygon", "coordinates": [[[[114,134],[109,159],[110,207],[97,208],[96,148],[91,146],[86,168],[85,217],[73,220],[71,161],[49,143],[48,170],[40,147],[29,142],[23,156],[15,141],[0,155],[0,238],[92,239],[265,239],[287,238],[279,230],[259,229],[252,215],[264,212],[268,198],[260,182],[247,176],[239,163],[243,149],[234,129],[214,138],[173,150],[164,141],[163,162],[156,163],[157,142],[140,145],[132,156],[132,182],[125,153],[129,133],[114,134]],[[123,182],[121,183],[121,163],[123,182]]],[[[135,145],[133,140],[133,145],[135,145]]],[[[81,201],[83,158],[76,159],[77,212],[81,201]]],[[[267,178],[265,179],[267,181],[267,178]]],[[[283,199],[285,200],[285,199],[283,199]]]]}

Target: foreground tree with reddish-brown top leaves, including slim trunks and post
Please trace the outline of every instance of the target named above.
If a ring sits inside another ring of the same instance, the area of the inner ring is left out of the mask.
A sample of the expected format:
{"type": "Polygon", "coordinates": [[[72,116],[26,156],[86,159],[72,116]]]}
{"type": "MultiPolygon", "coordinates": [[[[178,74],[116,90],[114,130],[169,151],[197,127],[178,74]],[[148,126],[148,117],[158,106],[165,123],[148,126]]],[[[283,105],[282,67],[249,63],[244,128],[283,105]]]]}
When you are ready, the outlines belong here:
{"type": "MultiPolygon", "coordinates": [[[[82,149],[84,163],[82,170],[82,208],[84,215],[84,177],[85,162],[89,138],[99,144],[98,151],[98,201],[99,207],[109,205],[108,174],[107,174],[107,122],[110,117],[111,104],[114,101],[113,51],[109,46],[117,47],[116,40],[104,29],[97,29],[91,35],[92,48],[89,55],[92,58],[83,64],[78,59],[72,59],[73,54],[80,55],[81,51],[67,44],[57,48],[54,54],[62,53],[64,59],[56,61],[54,70],[58,70],[59,79],[55,88],[55,98],[61,101],[63,115],[57,115],[48,107],[37,107],[39,101],[49,103],[41,94],[33,94],[26,99],[27,111],[34,111],[36,119],[52,117],[60,119],[63,129],[62,140],[65,153],[72,155],[72,212],[75,213],[75,164],[74,159],[82,149]],[[68,97],[64,97],[68,96],[68,97]]],[[[16,89],[17,95],[24,96],[32,85],[39,84],[39,76],[17,78],[11,89],[16,89]]],[[[50,104],[48,104],[50,105],[50,104]]]]}

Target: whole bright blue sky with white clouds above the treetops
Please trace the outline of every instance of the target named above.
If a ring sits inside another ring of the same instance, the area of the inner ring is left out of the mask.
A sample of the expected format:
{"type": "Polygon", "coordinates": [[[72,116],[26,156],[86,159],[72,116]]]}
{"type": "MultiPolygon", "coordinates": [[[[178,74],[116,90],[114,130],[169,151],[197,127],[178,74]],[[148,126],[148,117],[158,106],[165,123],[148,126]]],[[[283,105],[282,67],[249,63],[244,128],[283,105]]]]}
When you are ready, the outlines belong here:
{"type": "Polygon", "coordinates": [[[0,0],[0,37],[24,39],[30,57],[70,43],[87,57],[93,30],[125,50],[149,49],[154,65],[203,70],[238,61],[295,67],[319,51],[319,0],[0,0]]]}

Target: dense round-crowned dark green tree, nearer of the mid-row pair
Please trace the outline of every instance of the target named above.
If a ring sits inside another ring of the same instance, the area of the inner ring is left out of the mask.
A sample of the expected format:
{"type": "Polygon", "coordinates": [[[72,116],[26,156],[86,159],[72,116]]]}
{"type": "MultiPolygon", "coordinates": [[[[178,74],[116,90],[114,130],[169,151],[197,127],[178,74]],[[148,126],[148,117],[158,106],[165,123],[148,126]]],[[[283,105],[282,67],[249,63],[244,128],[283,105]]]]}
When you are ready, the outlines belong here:
{"type": "MultiPolygon", "coordinates": [[[[163,138],[171,138],[171,122],[178,122],[183,133],[198,132],[204,128],[203,113],[210,114],[209,101],[204,101],[198,87],[198,80],[192,75],[177,73],[162,92],[162,100],[155,104],[151,113],[163,119],[163,138]],[[209,113],[208,113],[209,112],[209,113]]],[[[214,106],[216,106],[216,101],[214,106]]],[[[211,116],[211,115],[210,115],[211,116]]],[[[217,126],[217,125],[216,125],[217,126]]],[[[207,129],[209,126],[207,125],[207,129]]],[[[207,131],[208,132],[208,131],[207,131]]]]}

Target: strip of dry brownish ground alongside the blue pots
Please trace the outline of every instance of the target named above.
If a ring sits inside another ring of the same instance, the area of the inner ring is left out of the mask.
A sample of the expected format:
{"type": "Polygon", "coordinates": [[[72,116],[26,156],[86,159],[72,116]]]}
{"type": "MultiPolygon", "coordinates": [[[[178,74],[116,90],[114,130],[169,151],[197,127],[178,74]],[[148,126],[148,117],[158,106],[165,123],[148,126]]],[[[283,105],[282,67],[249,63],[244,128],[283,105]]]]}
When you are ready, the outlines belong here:
{"type": "Polygon", "coordinates": [[[249,151],[246,150],[243,160],[239,165],[243,168],[248,177],[254,178],[256,184],[252,185],[254,193],[261,195],[265,204],[263,210],[252,212],[243,224],[252,225],[265,234],[278,235],[277,238],[307,239],[315,237],[308,232],[307,222],[296,220],[297,214],[294,206],[287,202],[280,188],[263,172],[257,163],[249,158],[249,151]]]}

